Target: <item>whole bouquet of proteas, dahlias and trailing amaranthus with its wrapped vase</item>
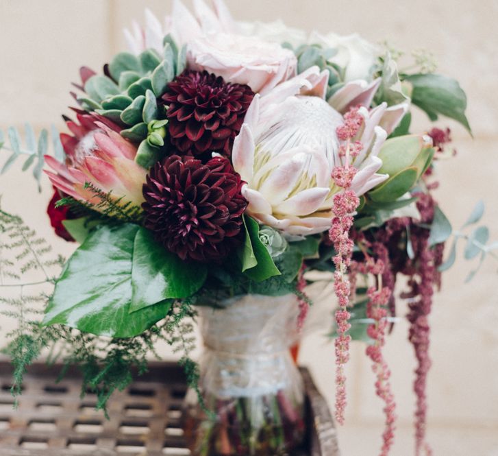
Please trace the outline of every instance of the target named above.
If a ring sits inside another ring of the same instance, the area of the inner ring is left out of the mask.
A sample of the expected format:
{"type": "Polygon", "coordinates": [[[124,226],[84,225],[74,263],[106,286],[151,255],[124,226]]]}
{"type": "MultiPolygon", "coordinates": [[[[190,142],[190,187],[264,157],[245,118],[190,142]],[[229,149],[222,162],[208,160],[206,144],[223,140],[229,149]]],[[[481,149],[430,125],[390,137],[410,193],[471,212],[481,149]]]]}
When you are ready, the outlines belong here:
{"type": "MultiPolygon", "coordinates": [[[[12,151],[4,170],[23,154],[38,179],[47,165],[51,224],[80,244],[67,261],[42,259],[42,240],[1,213],[0,252],[23,249],[23,272],[37,269],[54,285],[42,322],[27,316],[33,297],[3,299],[24,309],[8,348],[14,392],[42,348],[66,341],[60,356],[82,366],[84,387],[105,407],[131,381],[129,368],[145,370],[147,352],[165,339],[186,351],[181,362],[199,394],[187,426],[195,454],[286,454],[303,435],[288,349],[313,285],[334,283],[336,420],[344,420],[349,342],[362,339],[385,403],[386,455],[395,399],[382,347],[403,274],[418,455],[428,448],[427,317],[455,243],[443,263],[452,230],[431,191],[435,163],[452,154],[449,130],[412,132],[411,111],[470,132],[464,92],[421,54],[403,71],[397,54],[357,35],[240,23],[221,0],[212,9],[194,3],[192,14],[175,1],[164,22],[147,12],[145,27],[126,32],[129,51],[101,72],[82,67],[72,119],[64,116],[69,132],[53,136],[53,155],[45,131],[38,147],[29,128],[26,147],[14,128],[10,147],[0,138],[12,151]],[[56,264],[62,272],[51,275],[56,264]],[[199,313],[208,352],[200,381],[187,323],[199,313]]],[[[478,205],[469,225],[481,215],[478,205]]],[[[486,228],[468,239],[466,256],[484,259],[486,228]]]]}

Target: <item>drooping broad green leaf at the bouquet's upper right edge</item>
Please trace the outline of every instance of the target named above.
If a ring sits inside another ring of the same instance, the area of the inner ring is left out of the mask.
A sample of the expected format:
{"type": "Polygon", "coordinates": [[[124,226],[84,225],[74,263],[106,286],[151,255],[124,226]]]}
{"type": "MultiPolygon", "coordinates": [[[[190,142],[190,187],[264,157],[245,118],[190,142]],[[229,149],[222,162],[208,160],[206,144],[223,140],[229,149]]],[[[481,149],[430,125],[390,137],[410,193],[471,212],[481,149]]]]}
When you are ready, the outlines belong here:
{"type": "Polygon", "coordinates": [[[436,74],[416,74],[406,77],[413,86],[412,103],[427,112],[430,119],[438,114],[460,122],[469,132],[471,126],[465,116],[467,99],[458,82],[436,74]]]}

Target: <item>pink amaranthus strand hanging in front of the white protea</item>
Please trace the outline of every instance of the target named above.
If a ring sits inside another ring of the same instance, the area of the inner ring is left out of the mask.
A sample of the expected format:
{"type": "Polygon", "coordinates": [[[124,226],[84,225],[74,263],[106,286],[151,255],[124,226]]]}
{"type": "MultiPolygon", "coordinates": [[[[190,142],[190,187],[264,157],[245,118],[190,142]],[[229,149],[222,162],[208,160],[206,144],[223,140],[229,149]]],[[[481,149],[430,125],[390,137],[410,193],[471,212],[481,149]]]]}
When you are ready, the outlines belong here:
{"type": "Polygon", "coordinates": [[[340,146],[339,155],[343,158],[343,166],[337,166],[332,171],[332,178],[338,187],[344,191],[334,196],[334,218],[329,230],[329,237],[334,244],[336,256],[334,264],[334,290],[338,298],[339,307],[336,310],[337,337],[336,348],[336,420],[339,424],[344,423],[344,411],[346,407],[346,376],[344,365],[349,360],[349,342],[351,336],[347,331],[351,327],[347,310],[351,284],[347,276],[347,269],[351,265],[354,243],[349,239],[349,230],[353,226],[353,213],[356,211],[360,200],[356,193],[351,190],[351,182],[356,175],[357,169],[350,165],[350,158],[357,156],[362,149],[361,143],[353,142],[362,125],[362,117],[358,114],[358,108],[352,108],[344,117],[345,122],[337,128],[337,136],[343,144],[340,146]]]}

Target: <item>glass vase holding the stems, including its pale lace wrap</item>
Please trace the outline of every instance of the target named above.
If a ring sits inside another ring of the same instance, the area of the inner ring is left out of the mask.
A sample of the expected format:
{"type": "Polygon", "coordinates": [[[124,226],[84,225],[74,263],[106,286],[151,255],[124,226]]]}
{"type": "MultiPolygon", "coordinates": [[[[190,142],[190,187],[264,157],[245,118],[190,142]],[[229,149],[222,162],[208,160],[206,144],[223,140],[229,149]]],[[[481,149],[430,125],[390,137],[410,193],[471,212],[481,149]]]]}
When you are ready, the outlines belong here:
{"type": "Polygon", "coordinates": [[[193,456],[279,456],[303,440],[303,384],[290,355],[297,298],[246,295],[201,307],[204,351],[185,434],[193,456]]]}

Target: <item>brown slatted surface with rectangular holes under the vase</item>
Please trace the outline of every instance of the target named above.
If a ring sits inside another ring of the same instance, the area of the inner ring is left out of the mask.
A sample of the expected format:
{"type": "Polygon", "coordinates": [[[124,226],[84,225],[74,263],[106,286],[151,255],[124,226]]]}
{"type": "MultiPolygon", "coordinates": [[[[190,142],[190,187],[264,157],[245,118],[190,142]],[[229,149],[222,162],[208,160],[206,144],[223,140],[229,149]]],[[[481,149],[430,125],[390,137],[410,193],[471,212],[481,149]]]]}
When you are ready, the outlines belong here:
{"type": "MultiPolygon", "coordinates": [[[[1,456],[188,456],[182,431],[184,374],[173,363],[149,372],[109,403],[110,420],[95,411],[96,397],[80,397],[76,371],[55,383],[57,366],[33,365],[18,409],[10,395],[8,363],[0,363],[1,456]]],[[[338,456],[336,431],[323,397],[302,370],[308,396],[307,448],[295,456],[338,456]]]]}

